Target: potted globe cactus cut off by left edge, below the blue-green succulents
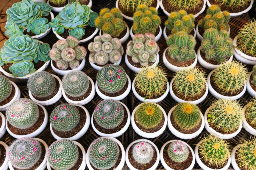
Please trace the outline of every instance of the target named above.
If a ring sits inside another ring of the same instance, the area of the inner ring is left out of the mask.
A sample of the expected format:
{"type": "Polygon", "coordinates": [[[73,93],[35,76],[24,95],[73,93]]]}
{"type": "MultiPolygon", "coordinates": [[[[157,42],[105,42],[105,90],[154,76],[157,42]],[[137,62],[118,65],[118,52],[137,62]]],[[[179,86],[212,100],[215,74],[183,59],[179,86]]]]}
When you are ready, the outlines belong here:
{"type": "Polygon", "coordinates": [[[2,75],[0,75],[0,94],[0,111],[5,111],[11,103],[21,97],[18,86],[2,75]]]}

